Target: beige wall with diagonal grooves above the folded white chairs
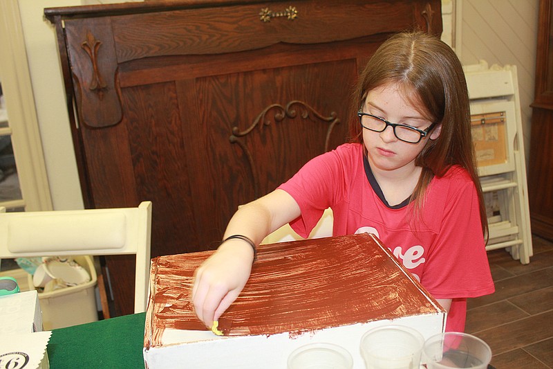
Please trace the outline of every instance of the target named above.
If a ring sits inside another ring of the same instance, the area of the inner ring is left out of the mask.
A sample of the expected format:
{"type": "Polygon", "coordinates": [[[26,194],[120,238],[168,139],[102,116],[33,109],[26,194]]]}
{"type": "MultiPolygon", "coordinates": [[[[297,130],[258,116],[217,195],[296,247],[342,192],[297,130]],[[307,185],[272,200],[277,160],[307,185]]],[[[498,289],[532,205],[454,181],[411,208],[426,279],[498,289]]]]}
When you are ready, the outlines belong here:
{"type": "MultiPolygon", "coordinates": [[[[530,123],[536,74],[538,0],[457,0],[462,1],[460,60],[463,64],[516,65],[518,91],[529,160],[530,123]]],[[[527,165],[528,166],[528,165],[527,165]]]]}

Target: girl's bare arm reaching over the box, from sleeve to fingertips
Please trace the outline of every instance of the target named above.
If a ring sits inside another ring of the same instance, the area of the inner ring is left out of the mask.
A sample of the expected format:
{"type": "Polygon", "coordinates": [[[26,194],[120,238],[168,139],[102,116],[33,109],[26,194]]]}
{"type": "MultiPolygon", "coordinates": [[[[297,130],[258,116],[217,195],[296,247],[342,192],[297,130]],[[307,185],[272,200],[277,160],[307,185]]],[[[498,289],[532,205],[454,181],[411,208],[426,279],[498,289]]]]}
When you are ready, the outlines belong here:
{"type": "MultiPolygon", "coordinates": [[[[249,237],[256,245],[284,224],[301,215],[294,198],[274,190],[238,208],[227,226],[223,240],[231,235],[249,237]]],[[[223,242],[196,270],[192,301],[196,315],[207,327],[225,312],[242,291],[252,270],[254,252],[241,239],[223,242]]]]}

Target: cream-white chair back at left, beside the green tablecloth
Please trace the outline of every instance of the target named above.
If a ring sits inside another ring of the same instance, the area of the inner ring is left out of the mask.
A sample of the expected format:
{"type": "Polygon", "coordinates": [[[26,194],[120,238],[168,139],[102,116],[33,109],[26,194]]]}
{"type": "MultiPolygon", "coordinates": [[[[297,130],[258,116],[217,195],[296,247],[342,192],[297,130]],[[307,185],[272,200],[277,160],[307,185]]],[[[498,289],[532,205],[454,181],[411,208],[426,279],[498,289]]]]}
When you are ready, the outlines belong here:
{"type": "Polygon", "coordinates": [[[0,207],[0,259],[135,254],[135,313],[146,310],[151,201],[138,208],[6,213],[0,207]]]}

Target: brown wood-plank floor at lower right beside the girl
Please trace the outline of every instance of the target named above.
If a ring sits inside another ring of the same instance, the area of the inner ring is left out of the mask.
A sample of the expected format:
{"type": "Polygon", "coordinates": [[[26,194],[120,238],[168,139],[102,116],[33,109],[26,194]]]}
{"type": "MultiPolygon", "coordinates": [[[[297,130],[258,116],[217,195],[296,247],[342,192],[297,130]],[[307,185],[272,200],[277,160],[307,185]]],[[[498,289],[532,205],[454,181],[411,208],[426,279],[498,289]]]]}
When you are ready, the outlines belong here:
{"type": "Polygon", "coordinates": [[[468,302],[465,331],[490,345],[496,369],[553,368],[553,243],[533,246],[527,265],[490,251],[496,292],[468,302]]]}

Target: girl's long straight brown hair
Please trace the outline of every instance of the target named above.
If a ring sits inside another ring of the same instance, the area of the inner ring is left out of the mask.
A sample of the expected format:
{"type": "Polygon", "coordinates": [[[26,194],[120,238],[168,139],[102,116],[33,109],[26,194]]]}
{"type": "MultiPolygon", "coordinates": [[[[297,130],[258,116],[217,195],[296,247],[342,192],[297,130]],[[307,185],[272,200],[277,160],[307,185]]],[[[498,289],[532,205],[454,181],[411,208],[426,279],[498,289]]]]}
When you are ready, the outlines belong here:
{"type": "MultiPolygon", "coordinates": [[[[422,104],[420,113],[441,124],[440,136],[427,140],[415,159],[422,173],[411,196],[414,209],[422,209],[424,194],[434,176],[442,177],[451,165],[460,165],[476,186],[482,233],[487,237],[486,208],[471,137],[467,82],[457,55],[438,37],[427,33],[393,35],[378,48],[359,75],[353,109],[359,109],[368,91],[389,82],[397,83],[405,91],[415,91],[415,96],[405,97],[412,102],[418,100],[422,104]]],[[[358,121],[352,120],[350,135],[354,142],[362,143],[358,121]]]]}

